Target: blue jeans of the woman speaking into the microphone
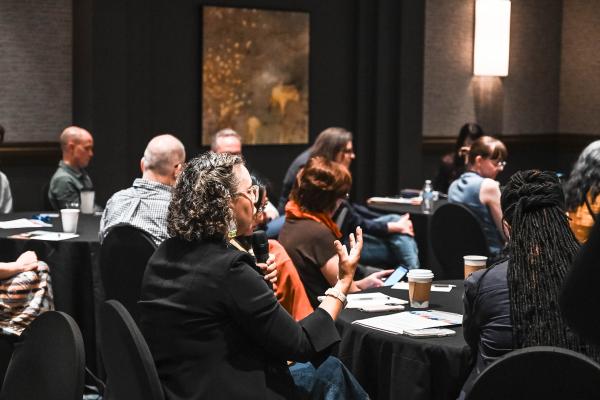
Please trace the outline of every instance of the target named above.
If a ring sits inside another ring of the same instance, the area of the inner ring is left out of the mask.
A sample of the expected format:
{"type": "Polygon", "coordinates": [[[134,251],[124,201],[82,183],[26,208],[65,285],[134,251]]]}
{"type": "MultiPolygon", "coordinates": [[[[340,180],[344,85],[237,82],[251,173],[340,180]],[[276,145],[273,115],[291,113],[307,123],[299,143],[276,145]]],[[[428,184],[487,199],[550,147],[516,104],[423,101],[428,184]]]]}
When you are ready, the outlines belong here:
{"type": "Polygon", "coordinates": [[[307,399],[339,400],[368,399],[367,392],[336,357],[328,357],[319,368],[311,363],[296,363],[290,367],[296,387],[307,399]]]}

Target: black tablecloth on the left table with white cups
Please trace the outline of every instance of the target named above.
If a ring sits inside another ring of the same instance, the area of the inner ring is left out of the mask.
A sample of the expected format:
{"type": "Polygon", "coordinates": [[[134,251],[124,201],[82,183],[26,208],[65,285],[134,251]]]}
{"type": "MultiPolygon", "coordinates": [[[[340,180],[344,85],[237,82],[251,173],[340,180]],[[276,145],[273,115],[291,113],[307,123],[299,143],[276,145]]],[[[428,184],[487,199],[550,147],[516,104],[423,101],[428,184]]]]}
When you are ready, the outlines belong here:
{"type": "MultiPolygon", "coordinates": [[[[21,212],[0,216],[0,221],[31,218],[36,212],[21,212]]],[[[21,253],[33,250],[38,259],[50,267],[50,277],[57,310],[72,316],[83,335],[86,365],[97,371],[96,311],[103,298],[99,276],[100,217],[80,215],[79,237],[50,242],[12,239],[8,236],[33,231],[62,231],[60,218],[52,218],[52,228],[0,229],[0,261],[14,261],[21,253]]]]}

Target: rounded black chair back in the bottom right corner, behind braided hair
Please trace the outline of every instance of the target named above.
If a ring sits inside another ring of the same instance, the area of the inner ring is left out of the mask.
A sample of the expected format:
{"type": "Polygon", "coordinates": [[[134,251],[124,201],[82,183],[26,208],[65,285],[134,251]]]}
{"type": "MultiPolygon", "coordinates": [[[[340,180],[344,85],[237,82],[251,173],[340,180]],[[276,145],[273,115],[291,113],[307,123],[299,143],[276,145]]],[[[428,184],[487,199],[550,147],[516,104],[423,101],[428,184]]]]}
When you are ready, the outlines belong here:
{"type": "Polygon", "coordinates": [[[600,365],[558,347],[528,347],[508,353],[475,379],[467,400],[597,399],[600,365]]]}

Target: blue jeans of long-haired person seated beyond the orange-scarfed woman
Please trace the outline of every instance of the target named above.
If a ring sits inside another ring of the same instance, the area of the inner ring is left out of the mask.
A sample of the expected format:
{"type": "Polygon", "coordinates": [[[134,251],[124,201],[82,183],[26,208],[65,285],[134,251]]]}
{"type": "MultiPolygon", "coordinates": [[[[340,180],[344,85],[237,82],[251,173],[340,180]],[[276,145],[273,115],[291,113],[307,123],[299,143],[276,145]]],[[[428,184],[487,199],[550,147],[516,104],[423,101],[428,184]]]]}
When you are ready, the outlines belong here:
{"type": "MultiPolygon", "coordinates": [[[[387,223],[399,219],[397,214],[386,214],[375,221],[387,223]]],[[[404,265],[408,269],[419,268],[419,249],[412,236],[399,233],[385,237],[363,235],[363,240],[361,264],[381,268],[394,268],[398,265],[404,265]]]]}

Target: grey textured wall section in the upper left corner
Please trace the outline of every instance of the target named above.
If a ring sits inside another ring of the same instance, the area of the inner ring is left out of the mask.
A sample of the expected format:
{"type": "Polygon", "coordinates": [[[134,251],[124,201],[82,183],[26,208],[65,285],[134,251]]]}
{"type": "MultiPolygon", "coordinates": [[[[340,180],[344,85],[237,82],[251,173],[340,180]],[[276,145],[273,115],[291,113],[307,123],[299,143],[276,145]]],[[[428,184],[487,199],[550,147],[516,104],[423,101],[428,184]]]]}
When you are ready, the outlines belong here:
{"type": "Polygon", "coordinates": [[[71,122],[71,0],[0,1],[5,140],[55,141],[71,122]]]}

